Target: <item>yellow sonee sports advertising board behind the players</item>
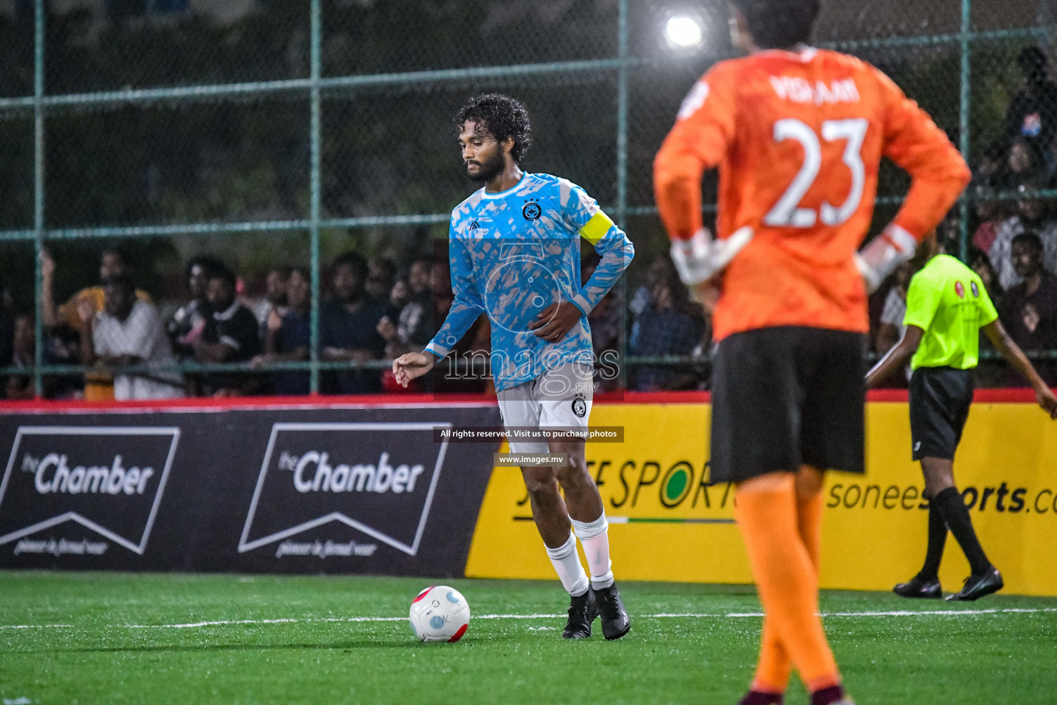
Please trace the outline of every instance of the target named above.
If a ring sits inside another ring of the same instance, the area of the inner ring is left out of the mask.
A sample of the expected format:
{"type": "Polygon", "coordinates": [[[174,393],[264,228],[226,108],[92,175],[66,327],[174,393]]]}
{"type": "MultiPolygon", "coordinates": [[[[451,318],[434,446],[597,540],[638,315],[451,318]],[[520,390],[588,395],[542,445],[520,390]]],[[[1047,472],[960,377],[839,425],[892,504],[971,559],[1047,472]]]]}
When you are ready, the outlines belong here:
{"type": "MultiPolygon", "coordinates": [[[[708,482],[706,404],[599,404],[593,426],[623,426],[623,443],[590,443],[588,466],[610,520],[613,571],[626,580],[752,582],[734,523],[734,489],[708,482]]],[[[823,588],[889,590],[925,556],[924,482],[910,459],[905,403],[867,410],[867,474],[833,472],[822,519],[823,588]]],[[[1057,595],[1057,423],[1028,404],[977,404],[954,476],[1006,591],[1057,595]]],[[[469,577],[545,578],[521,474],[497,467],[466,563],[469,577]]],[[[968,564],[953,537],[940,571],[948,590],[968,564]]]]}

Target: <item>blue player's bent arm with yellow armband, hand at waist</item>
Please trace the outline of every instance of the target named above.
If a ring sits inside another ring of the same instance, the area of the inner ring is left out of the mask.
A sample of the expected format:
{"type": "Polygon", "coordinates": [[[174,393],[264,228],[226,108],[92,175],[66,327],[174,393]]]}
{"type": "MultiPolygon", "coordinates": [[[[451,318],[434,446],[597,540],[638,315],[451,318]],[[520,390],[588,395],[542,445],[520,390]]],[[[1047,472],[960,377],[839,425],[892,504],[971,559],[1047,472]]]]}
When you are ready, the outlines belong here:
{"type": "Polygon", "coordinates": [[[635,257],[635,246],[628,236],[579,186],[571,185],[562,203],[562,218],[571,230],[594,245],[601,260],[571,301],[551,304],[530,324],[537,336],[551,342],[565,337],[580,318],[606,298],[635,257]]]}

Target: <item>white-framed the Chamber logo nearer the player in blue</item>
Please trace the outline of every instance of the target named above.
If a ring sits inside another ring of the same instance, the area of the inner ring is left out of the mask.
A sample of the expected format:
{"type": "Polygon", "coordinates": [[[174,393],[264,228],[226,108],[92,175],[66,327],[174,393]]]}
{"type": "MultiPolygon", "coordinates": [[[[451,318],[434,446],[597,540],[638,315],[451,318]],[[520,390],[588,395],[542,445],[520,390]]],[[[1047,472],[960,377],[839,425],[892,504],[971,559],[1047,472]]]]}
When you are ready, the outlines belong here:
{"type": "MultiPolygon", "coordinates": [[[[277,557],[298,555],[286,539],[336,522],[416,555],[448,445],[433,442],[434,427],[451,424],[274,424],[239,553],[279,544],[277,557]]],[[[342,541],[328,555],[373,553],[342,541]]]]}

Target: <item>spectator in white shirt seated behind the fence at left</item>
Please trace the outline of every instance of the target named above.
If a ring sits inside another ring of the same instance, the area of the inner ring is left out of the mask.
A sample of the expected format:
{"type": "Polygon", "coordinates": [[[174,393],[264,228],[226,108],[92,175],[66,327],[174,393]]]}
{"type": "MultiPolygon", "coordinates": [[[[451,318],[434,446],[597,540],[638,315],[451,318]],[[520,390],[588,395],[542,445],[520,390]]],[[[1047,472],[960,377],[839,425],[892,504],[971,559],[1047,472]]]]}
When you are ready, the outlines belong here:
{"type": "Polygon", "coordinates": [[[137,300],[135,286],[127,275],[104,282],[106,304],[96,313],[90,302],[78,303],[81,320],[80,348],[86,365],[110,368],[114,398],[157,400],[184,395],[180,372],[164,369],[177,364],[165,326],[152,303],[137,300]],[[156,371],[122,373],[129,366],[156,366],[156,371]]]}

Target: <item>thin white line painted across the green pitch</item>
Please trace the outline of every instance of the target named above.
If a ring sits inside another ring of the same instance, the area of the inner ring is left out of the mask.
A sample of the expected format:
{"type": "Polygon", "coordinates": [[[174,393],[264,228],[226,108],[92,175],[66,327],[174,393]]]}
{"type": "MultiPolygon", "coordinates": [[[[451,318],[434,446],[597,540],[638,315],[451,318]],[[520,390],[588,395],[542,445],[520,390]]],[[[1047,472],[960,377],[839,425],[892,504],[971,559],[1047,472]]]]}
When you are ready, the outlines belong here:
{"type": "MultiPolygon", "coordinates": [[[[988,610],[924,610],[914,612],[910,610],[892,610],[887,612],[822,612],[822,617],[966,617],[984,614],[1043,614],[1057,612],[1057,607],[1040,608],[1005,608],[988,610]]],[[[479,614],[474,619],[557,619],[564,614],[479,614]]],[[[726,612],[726,613],[705,613],[705,612],[660,612],[657,614],[639,614],[638,618],[661,619],[738,619],[744,617],[762,617],[762,612],[726,612]]],[[[209,621],[188,621],[174,625],[115,625],[123,629],[200,629],[203,627],[225,627],[233,625],[288,625],[288,624],[310,624],[310,623],[376,623],[376,621],[404,621],[407,617],[304,617],[304,618],[278,618],[278,619],[216,619],[209,621]]],[[[73,625],[0,625],[0,629],[73,629],[73,625]]]]}

